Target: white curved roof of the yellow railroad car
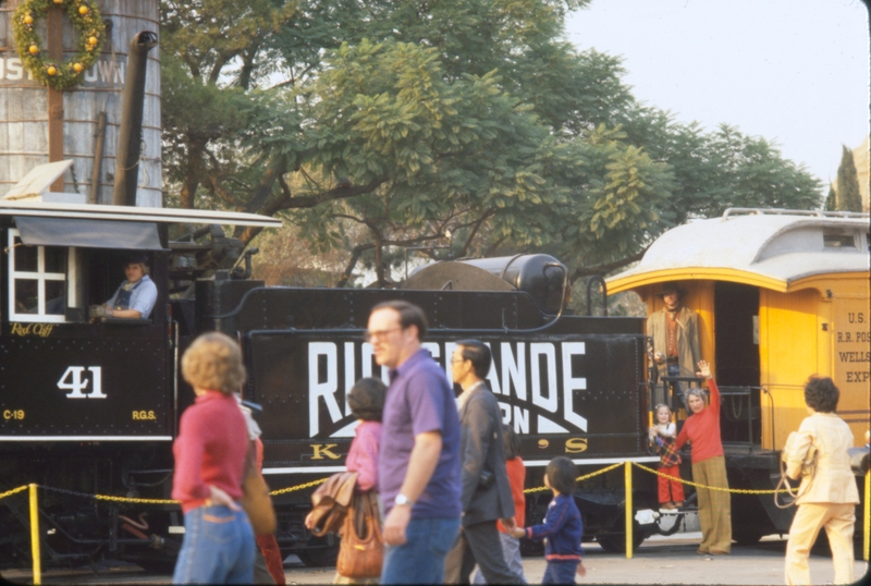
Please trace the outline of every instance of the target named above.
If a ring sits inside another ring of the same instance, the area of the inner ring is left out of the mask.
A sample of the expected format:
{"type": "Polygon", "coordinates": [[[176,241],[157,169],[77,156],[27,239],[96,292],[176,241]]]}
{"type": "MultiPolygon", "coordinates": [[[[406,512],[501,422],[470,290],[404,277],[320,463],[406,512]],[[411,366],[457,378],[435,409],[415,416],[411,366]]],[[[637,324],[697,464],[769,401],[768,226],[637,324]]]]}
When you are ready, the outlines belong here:
{"type": "Polygon", "coordinates": [[[664,280],[744,273],[786,290],[814,274],[867,272],[869,216],[789,210],[727,210],[665,232],[641,261],[608,280],[618,292],[664,280]],[[737,213],[736,213],[737,212],[737,213]]]}

